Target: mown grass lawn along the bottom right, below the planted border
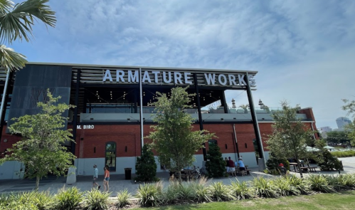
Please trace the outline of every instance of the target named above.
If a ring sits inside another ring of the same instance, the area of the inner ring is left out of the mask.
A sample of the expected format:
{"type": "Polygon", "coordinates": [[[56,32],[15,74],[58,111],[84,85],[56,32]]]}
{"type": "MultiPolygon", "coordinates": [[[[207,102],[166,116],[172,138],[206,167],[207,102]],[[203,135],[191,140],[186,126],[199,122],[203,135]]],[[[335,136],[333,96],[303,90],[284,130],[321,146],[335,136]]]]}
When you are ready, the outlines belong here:
{"type": "MultiPolygon", "coordinates": [[[[314,194],[310,196],[288,196],[280,199],[251,199],[243,201],[213,202],[181,206],[159,206],[145,208],[157,209],[354,209],[355,191],[341,191],[332,194],[314,194]]],[[[144,208],[140,208],[144,209],[144,208]]]]}

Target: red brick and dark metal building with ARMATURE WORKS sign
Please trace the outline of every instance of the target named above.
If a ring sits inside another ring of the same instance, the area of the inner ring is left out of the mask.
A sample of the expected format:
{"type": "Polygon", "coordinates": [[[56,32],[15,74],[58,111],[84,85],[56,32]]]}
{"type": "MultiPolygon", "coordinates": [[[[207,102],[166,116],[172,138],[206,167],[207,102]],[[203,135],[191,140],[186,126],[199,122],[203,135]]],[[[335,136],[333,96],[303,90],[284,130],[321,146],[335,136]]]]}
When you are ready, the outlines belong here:
{"type": "MultiPolygon", "coordinates": [[[[142,145],[149,143],[144,137],[154,124],[152,102],[157,91],[169,95],[171,88],[189,86],[187,91],[196,94],[191,98],[193,108],[186,110],[195,119],[194,130],[208,130],[218,137],[196,152],[195,165],[202,167],[208,145],[217,144],[223,157],[243,157],[245,164],[256,167],[259,157],[268,157],[265,137],[272,133],[273,122],[271,108],[258,109],[253,105],[256,74],[245,70],[30,63],[9,75],[0,153],[4,155],[20,140],[7,130],[13,123],[9,119],[36,114],[36,103],[46,100],[49,89],[54,97],[61,96],[60,103],[75,105],[65,113],[69,117],[65,129],[73,130],[75,143],[65,146],[77,157],[78,175],[92,175],[93,164],[99,168],[109,165],[112,174],[124,174],[127,167],[134,173],[142,145]],[[246,91],[248,109],[228,107],[226,90],[246,91]],[[218,107],[201,110],[213,103],[218,103],[218,107]]],[[[2,92],[6,84],[4,70],[0,71],[0,82],[2,92]]],[[[312,108],[300,109],[297,117],[317,130],[312,108]]],[[[18,179],[21,170],[21,163],[6,162],[0,166],[0,179],[18,179]]]]}

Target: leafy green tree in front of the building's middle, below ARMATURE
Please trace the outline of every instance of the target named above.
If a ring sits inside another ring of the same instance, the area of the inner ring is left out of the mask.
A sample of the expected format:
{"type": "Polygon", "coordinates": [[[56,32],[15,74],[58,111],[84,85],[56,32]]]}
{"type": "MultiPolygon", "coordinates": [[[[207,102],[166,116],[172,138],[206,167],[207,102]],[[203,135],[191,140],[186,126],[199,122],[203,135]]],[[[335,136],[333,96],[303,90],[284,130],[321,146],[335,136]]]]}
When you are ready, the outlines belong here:
{"type": "Polygon", "coordinates": [[[184,110],[191,107],[188,104],[194,94],[187,93],[186,89],[172,88],[170,98],[165,93],[157,93],[157,102],[153,105],[157,110],[154,122],[158,125],[153,125],[154,132],[147,136],[153,140],[152,145],[159,154],[159,162],[171,160],[171,170],[179,172],[180,182],[181,169],[193,164],[194,154],[203,147],[203,142],[214,136],[206,130],[192,131],[194,119],[184,110]],[[164,157],[163,161],[160,156],[164,157]]]}

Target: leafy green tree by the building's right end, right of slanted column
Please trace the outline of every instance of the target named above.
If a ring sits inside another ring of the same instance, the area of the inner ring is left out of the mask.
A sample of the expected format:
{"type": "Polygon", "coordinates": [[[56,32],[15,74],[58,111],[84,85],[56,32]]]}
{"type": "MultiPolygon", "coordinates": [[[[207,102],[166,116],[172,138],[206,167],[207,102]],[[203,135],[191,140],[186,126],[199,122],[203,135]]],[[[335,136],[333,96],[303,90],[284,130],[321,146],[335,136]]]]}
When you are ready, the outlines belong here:
{"type": "Polygon", "coordinates": [[[275,122],[272,124],[273,134],[267,135],[267,149],[277,159],[295,157],[303,177],[300,159],[311,157],[312,152],[307,152],[307,145],[314,144],[314,133],[297,118],[298,107],[292,108],[287,102],[281,105],[282,110],[272,113],[275,122]]]}

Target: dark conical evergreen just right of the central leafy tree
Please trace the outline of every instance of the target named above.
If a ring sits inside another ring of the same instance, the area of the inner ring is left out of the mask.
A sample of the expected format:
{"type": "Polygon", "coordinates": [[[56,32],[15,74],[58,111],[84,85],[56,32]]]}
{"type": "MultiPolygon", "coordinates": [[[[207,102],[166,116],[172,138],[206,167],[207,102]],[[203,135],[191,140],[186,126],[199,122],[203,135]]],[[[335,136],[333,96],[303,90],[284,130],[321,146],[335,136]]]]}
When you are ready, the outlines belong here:
{"type": "Polygon", "coordinates": [[[221,149],[218,145],[208,145],[206,159],[206,170],[208,177],[224,177],[226,173],[226,161],[222,157],[221,149]]]}

